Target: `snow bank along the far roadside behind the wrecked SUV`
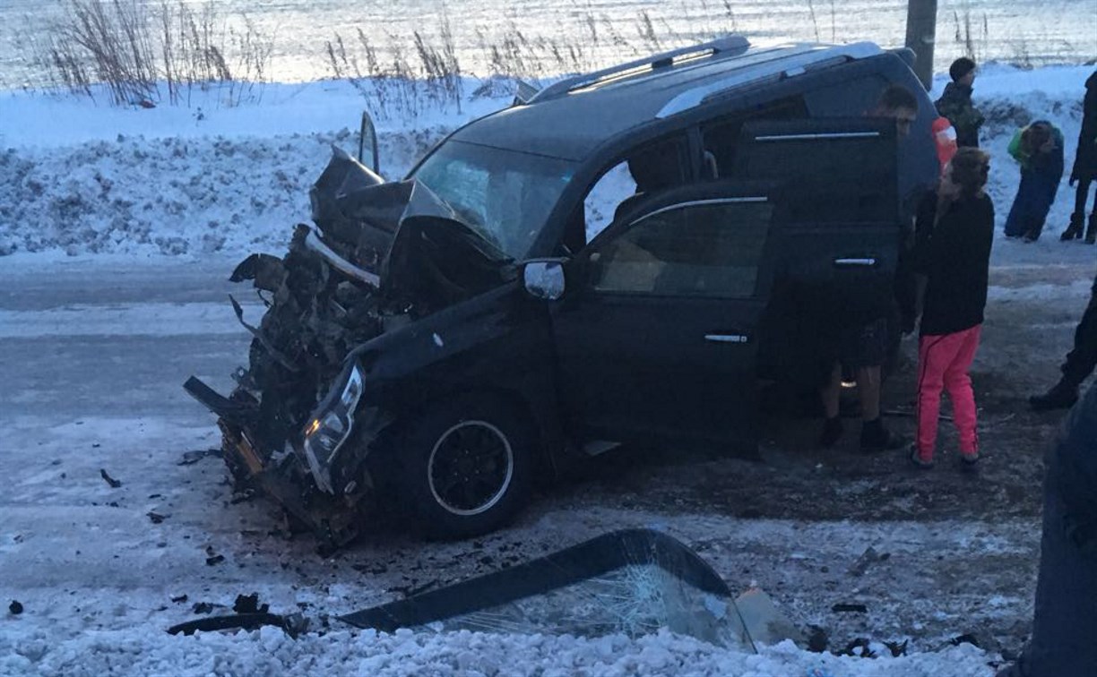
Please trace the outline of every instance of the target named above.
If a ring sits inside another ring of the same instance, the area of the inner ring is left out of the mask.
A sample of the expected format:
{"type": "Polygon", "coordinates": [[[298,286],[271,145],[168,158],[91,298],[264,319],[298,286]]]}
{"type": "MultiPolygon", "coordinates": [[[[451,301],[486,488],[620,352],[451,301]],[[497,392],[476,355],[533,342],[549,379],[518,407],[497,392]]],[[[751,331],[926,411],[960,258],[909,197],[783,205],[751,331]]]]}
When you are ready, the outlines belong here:
{"type": "MultiPolygon", "coordinates": [[[[1051,119],[1067,140],[1068,168],[1090,72],[983,69],[975,97],[987,114],[988,192],[999,227],[1019,181],[1006,153],[1014,129],[1051,119]]],[[[465,87],[460,112],[425,107],[429,113],[411,119],[378,121],[383,173],[402,176],[449,130],[509,102],[506,88],[486,96],[474,96],[475,89],[465,87]]],[[[0,150],[0,255],[281,251],[293,225],[308,219],[308,188],[327,163],[329,146],[357,152],[351,129],[363,100],[340,82],[270,85],[255,106],[219,107],[215,93],[205,96],[193,108],[145,110],[0,94],[0,148],[7,148],[0,150]]],[[[1073,192],[1065,184],[1064,176],[1048,242],[1038,249],[1049,248],[1066,226],[1073,192]]],[[[996,257],[1021,248],[1010,242],[996,257]]]]}

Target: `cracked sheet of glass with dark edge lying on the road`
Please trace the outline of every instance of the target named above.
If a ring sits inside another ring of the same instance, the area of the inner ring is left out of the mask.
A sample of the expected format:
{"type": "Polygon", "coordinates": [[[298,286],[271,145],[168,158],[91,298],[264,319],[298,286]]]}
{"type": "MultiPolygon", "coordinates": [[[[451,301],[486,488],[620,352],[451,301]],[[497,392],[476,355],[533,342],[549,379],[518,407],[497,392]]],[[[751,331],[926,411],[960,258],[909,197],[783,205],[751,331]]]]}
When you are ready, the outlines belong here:
{"type": "Polygon", "coordinates": [[[525,564],[355,611],[359,628],[629,636],[667,629],[754,651],[731,590],[680,541],[614,531],[525,564]]]}

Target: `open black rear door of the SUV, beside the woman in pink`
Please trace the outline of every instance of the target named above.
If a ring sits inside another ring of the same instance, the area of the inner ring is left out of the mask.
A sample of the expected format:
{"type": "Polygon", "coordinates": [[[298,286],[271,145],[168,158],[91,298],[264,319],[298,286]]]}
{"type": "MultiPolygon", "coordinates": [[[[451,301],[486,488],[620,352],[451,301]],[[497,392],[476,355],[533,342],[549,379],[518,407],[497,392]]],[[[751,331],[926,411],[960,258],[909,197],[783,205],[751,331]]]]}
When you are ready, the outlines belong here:
{"type": "Polygon", "coordinates": [[[822,328],[891,314],[909,234],[897,156],[891,119],[744,125],[734,175],[781,182],[788,209],[773,243],[781,253],[764,320],[764,374],[806,383],[821,367],[822,328]]]}

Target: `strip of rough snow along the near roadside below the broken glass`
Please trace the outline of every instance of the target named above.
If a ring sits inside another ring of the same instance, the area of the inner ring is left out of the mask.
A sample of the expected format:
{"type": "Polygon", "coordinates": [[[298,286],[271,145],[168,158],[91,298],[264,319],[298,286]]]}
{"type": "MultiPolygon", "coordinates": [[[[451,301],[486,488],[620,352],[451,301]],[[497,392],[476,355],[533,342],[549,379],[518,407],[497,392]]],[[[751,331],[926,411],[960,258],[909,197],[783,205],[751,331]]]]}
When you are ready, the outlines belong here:
{"type": "Polygon", "coordinates": [[[57,642],[41,631],[0,633],[0,674],[109,677],[111,675],[290,675],[304,670],[338,677],[984,677],[986,655],[970,644],[935,654],[893,658],[813,654],[791,642],[744,654],[691,638],[660,633],[630,640],[452,633],[395,634],[336,630],[297,640],[264,628],[237,634],[171,636],[152,628],[89,632],[57,642]]]}

